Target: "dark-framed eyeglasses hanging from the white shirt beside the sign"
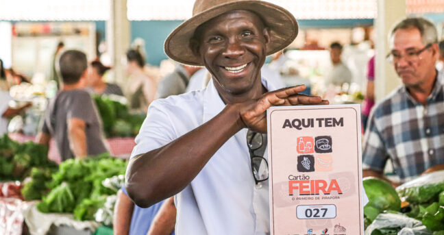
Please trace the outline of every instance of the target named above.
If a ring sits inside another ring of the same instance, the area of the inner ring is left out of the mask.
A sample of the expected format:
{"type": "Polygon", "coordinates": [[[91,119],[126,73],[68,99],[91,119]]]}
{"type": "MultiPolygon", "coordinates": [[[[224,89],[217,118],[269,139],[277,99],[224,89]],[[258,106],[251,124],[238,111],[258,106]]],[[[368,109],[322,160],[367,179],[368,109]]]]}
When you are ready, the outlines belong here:
{"type": "MultiPolygon", "coordinates": [[[[266,139],[267,137],[265,137],[266,139]]],[[[251,160],[251,171],[254,176],[254,182],[258,184],[259,182],[268,180],[268,162],[262,157],[254,153],[254,151],[260,149],[264,145],[264,137],[258,132],[253,132],[248,130],[247,132],[247,146],[250,153],[251,160]]]]}

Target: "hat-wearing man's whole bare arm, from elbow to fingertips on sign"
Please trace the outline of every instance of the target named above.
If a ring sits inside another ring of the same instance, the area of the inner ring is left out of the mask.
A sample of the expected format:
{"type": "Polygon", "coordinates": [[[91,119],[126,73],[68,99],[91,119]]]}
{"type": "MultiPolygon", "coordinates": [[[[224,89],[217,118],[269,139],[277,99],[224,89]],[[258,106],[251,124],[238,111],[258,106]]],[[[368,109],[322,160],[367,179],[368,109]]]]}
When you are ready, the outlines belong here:
{"type": "Polygon", "coordinates": [[[265,111],[271,106],[328,104],[321,97],[299,95],[305,86],[267,92],[258,100],[225,106],[213,119],[130,160],[126,173],[128,195],[147,208],[179,193],[196,177],[216,151],[240,129],[267,132],[265,111]]]}

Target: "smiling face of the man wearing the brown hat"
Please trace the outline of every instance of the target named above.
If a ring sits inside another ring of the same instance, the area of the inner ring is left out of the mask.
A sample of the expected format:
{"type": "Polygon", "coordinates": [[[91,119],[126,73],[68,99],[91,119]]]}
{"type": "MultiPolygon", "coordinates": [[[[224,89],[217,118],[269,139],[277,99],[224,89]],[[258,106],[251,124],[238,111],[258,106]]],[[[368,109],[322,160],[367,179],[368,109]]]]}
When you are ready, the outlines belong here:
{"type": "Polygon", "coordinates": [[[196,35],[195,53],[223,99],[262,94],[260,68],[267,56],[269,34],[256,14],[227,12],[201,25],[196,35]]]}

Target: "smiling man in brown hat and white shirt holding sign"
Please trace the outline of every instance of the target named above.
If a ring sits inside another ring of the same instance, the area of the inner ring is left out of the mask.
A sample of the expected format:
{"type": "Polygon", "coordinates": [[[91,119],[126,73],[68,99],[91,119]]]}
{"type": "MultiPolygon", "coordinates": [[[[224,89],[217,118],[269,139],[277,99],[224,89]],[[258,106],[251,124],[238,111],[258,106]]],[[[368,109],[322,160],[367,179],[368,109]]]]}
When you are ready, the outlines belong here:
{"type": "Polygon", "coordinates": [[[297,28],[290,12],[268,2],[195,2],[165,52],[206,66],[212,81],[151,103],[127,169],[138,206],[175,195],[177,234],[269,234],[265,111],[328,103],[299,95],[305,86],[275,90],[260,75],[265,57],[288,46],[297,28]]]}

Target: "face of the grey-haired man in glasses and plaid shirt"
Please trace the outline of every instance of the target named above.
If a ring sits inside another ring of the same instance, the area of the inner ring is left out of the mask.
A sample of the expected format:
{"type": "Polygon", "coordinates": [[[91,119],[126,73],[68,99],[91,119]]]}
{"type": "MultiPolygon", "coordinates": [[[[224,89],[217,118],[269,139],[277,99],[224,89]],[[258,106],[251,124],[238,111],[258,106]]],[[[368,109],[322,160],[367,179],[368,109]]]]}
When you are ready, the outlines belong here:
{"type": "Polygon", "coordinates": [[[415,53],[425,46],[421,42],[419,29],[415,27],[397,29],[391,37],[391,52],[402,55],[399,60],[393,60],[393,66],[407,87],[430,84],[430,79],[432,81],[434,79],[434,66],[439,55],[436,45],[419,53],[417,60],[408,61],[405,59],[405,55],[409,52],[415,53]]]}

